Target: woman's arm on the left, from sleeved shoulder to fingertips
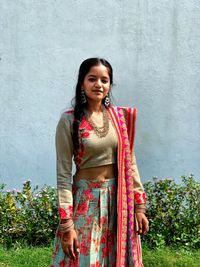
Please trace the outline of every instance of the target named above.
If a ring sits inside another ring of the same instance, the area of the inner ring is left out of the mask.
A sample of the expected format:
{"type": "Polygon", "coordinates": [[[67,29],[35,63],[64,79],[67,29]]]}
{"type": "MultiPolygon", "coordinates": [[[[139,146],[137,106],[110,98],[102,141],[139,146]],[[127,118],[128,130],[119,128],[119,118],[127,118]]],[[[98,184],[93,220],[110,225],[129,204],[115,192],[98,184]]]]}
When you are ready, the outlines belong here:
{"type": "Polygon", "coordinates": [[[56,129],[57,189],[62,249],[67,257],[75,260],[79,253],[77,233],[72,220],[72,157],[73,142],[69,114],[63,114],[56,129]]]}

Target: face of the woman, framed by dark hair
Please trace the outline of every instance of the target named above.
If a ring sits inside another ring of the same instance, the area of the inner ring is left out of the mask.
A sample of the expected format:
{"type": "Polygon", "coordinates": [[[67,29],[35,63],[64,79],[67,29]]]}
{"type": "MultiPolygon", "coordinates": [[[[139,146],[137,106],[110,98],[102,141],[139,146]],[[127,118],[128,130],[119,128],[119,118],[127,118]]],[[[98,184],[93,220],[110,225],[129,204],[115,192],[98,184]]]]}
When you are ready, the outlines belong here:
{"type": "Polygon", "coordinates": [[[88,100],[102,101],[110,90],[108,69],[102,64],[93,66],[85,76],[82,88],[88,100]]]}

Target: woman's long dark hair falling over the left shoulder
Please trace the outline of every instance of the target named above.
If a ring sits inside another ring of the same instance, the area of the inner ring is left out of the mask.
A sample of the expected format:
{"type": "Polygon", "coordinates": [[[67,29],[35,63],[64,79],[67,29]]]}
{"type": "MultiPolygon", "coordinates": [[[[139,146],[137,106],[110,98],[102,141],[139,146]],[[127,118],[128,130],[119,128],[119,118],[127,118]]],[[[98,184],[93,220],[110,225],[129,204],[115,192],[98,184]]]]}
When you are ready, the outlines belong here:
{"type": "MultiPolygon", "coordinates": [[[[80,68],[79,68],[78,81],[76,85],[76,94],[73,99],[74,103],[72,104],[74,107],[72,140],[73,140],[75,152],[77,152],[77,150],[80,147],[79,125],[84,116],[84,108],[86,108],[87,106],[87,103],[83,104],[81,101],[81,86],[83,84],[85,76],[88,74],[90,69],[100,64],[104,65],[108,69],[108,74],[110,77],[110,84],[112,85],[113,84],[113,70],[112,70],[112,66],[107,60],[103,58],[88,58],[81,63],[80,68]]],[[[102,100],[102,104],[104,104],[105,106],[105,98],[102,100]]]]}

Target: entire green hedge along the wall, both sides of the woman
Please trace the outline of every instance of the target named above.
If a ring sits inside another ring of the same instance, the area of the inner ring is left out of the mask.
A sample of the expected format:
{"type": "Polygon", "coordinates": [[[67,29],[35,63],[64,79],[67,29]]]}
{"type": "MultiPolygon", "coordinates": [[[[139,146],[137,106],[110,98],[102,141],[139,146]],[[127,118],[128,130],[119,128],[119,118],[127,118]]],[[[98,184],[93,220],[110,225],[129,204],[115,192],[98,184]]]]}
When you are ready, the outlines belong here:
{"type": "MultiPolygon", "coordinates": [[[[150,231],[143,243],[150,248],[179,246],[200,248],[200,183],[182,176],[181,183],[156,179],[144,183],[150,231]]],[[[5,191],[0,186],[0,244],[47,245],[58,225],[57,192],[45,186],[5,191]]]]}

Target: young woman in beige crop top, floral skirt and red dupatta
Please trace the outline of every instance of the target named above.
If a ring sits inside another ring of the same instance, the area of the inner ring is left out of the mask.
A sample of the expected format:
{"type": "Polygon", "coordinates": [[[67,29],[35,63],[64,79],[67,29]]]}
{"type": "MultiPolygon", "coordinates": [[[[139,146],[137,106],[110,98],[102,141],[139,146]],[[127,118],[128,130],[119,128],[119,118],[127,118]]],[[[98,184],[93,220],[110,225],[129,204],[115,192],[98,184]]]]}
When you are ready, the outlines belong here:
{"type": "Polygon", "coordinates": [[[136,110],[111,105],[112,84],[105,59],[82,62],[74,109],[57,126],[60,224],[52,267],[143,266],[139,235],[148,220],[133,150],[136,110]]]}

